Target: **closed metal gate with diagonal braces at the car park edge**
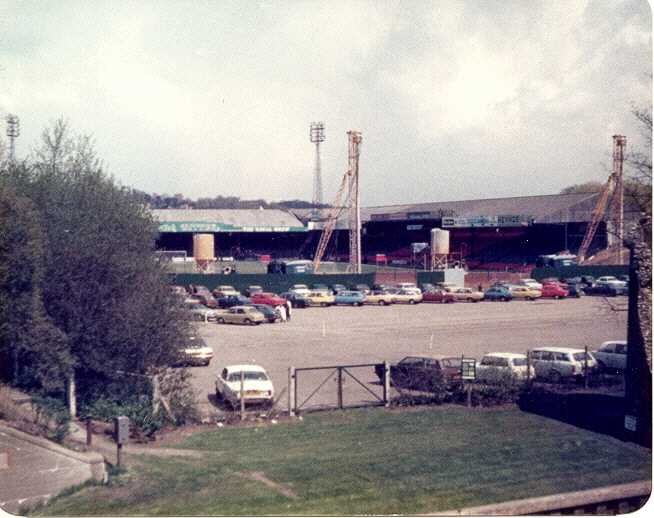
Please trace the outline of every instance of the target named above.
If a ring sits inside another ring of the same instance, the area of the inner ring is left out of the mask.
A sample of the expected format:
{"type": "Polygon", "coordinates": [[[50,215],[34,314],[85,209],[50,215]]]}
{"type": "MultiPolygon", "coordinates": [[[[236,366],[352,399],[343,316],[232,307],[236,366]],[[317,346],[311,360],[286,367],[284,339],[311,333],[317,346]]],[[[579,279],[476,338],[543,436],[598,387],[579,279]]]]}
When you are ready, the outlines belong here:
{"type": "Polygon", "coordinates": [[[312,410],[388,406],[388,363],[362,363],[327,367],[290,367],[288,410],[290,415],[312,410]],[[375,368],[380,370],[380,376],[375,368]]]}

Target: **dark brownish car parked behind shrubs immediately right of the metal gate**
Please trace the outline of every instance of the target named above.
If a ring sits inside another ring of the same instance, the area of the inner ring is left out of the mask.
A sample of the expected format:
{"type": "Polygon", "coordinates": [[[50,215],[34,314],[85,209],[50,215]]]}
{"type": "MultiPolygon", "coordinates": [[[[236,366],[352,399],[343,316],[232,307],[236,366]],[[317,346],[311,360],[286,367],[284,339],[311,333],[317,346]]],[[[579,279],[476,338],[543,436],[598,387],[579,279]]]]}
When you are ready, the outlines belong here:
{"type": "MultiPolygon", "coordinates": [[[[375,365],[384,381],[384,365],[375,365]]],[[[407,356],[390,366],[391,383],[398,388],[429,391],[461,381],[461,357],[407,356]]]]}

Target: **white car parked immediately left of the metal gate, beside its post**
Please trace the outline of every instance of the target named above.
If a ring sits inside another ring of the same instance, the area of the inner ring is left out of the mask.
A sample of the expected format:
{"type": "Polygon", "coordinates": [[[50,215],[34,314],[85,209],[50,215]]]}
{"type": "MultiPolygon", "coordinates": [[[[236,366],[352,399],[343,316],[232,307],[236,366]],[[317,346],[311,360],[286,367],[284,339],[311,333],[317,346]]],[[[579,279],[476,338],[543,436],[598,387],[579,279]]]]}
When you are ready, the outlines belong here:
{"type": "Polygon", "coordinates": [[[228,365],[216,378],[216,398],[238,407],[243,383],[243,400],[246,405],[272,406],[275,389],[263,367],[252,364],[228,365]]]}

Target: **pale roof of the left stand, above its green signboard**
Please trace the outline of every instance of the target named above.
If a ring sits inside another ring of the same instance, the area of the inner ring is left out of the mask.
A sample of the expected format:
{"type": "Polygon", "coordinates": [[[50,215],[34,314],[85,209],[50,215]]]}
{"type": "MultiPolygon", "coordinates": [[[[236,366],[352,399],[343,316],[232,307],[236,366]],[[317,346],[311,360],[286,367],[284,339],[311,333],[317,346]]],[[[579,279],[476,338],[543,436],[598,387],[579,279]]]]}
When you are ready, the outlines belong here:
{"type": "Polygon", "coordinates": [[[166,222],[221,223],[235,227],[302,227],[290,212],[279,209],[155,209],[154,218],[166,222]]]}

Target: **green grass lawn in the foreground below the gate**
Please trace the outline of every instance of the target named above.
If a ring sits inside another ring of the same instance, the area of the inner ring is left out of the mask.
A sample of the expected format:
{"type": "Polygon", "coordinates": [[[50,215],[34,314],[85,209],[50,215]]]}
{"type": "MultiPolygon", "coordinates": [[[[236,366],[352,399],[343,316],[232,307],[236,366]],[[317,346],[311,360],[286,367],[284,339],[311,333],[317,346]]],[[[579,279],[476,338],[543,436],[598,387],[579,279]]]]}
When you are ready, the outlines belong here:
{"type": "Polygon", "coordinates": [[[415,514],[651,477],[649,450],[518,409],[320,413],[198,433],[181,447],[206,456],[142,457],[109,486],[38,513],[415,514]]]}

